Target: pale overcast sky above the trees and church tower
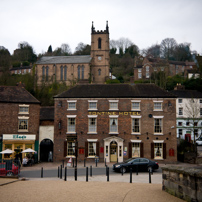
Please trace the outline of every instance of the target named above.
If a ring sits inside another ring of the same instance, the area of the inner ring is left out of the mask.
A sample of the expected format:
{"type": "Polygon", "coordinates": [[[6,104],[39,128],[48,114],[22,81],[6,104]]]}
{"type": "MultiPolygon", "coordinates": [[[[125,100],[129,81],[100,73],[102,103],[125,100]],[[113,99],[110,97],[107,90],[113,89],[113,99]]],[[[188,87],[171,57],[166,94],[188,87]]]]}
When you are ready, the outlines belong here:
{"type": "Polygon", "coordinates": [[[72,52],[91,43],[91,25],[110,39],[130,39],[139,49],[165,38],[191,43],[202,54],[202,0],[0,0],[0,46],[11,54],[26,41],[36,54],[62,43],[72,52]]]}

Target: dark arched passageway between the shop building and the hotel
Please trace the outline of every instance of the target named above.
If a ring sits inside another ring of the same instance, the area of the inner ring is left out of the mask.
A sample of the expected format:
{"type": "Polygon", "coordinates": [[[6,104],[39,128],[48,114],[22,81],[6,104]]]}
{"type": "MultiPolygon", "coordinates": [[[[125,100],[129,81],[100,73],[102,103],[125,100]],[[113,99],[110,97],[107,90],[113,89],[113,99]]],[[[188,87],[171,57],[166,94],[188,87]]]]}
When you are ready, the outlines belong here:
{"type": "Polygon", "coordinates": [[[44,139],[40,143],[40,161],[48,162],[49,153],[53,153],[53,142],[50,139],[44,139]]]}

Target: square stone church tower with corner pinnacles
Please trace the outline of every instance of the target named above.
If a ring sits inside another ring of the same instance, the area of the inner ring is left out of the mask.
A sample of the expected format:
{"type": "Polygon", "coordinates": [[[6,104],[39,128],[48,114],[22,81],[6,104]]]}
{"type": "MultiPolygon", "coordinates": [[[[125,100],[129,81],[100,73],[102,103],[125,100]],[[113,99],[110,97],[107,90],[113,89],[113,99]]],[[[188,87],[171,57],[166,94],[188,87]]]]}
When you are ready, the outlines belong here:
{"type": "Polygon", "coordinates": [[[91,28],[91,75],[92,83],[105,83],[109,77],[109,27],[106,30],[95,31],[93,22],[91,28]]]}

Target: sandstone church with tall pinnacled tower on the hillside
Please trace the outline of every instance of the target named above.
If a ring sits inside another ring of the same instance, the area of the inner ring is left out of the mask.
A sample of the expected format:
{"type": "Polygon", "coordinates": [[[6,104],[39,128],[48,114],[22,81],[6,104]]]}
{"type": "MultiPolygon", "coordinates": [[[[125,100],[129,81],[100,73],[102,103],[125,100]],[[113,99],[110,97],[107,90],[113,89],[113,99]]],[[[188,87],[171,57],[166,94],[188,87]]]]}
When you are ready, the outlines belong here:
{"type": "Polygon", "coordinates": [[[109,27],[96,31],[92,22],[91,55],[43,56],[36,62],[37,86],[53,82],[104,84],[109,78],[109,27]]]}

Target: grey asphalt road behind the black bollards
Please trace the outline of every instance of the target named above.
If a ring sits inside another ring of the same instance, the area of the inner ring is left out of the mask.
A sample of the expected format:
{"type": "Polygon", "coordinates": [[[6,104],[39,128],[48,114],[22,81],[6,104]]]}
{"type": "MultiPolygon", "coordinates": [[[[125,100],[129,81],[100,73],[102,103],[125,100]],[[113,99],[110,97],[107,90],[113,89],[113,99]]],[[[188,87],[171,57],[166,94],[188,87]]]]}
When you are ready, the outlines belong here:
{"type": "MultiPolygon", "coordinates": [[[[59,176],[60,176],[60,170],[59,169],[59,176]]],[[[74,176],[74,168],[67,168],[67,176],[74,176]]],[[[162,172],[161,169],[158,169],[155,171],[155,173],[160,174],[162,172]]],[[[62,169],[62,176],[64,177],[65,169],[62,169]]],[[[147,173],[147,172],[140,172],[147,173]]],[[[112,170],[112,168],[109,168],[109,175],[115,175],[117,174],[112,170]]],[[[119,173],[121,175],[121,173],[119,173]]],[[[78,168],[77,169],[77,175],[78,176],[86,176],[86,168],[78,168]]],[[[88,175],[90,175],[90,168],[88,168],[88,175]]],[[[106,176],[106,168],[93,168],[92,169],[92,175],[103,175],[106,176]]],[[[21,170],[20,177],[25,178],[40,178],[41,177],[41,170],[21,170]]],[[[44,178],[51,178],[51,177],[58,177],[58,169],[43,169],[43,177],[44,178]]]]}

